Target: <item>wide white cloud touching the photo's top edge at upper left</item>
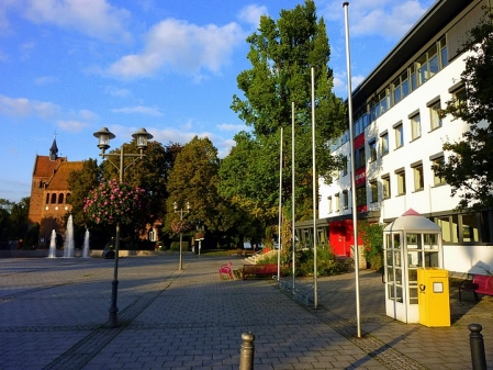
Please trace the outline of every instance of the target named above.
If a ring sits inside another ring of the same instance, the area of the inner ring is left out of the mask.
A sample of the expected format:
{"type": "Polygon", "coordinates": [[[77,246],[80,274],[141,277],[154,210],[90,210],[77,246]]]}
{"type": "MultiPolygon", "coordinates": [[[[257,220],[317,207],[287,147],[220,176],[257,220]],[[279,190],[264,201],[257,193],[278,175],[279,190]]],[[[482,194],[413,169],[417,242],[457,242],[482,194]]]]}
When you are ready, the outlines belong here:
{"type": "Polygon", "coordinates": [[[130,12],[105,0],[27,0],[23,13],[34,23],[72,29],[94,38],[131,40],[124,27],[130,12]]]}

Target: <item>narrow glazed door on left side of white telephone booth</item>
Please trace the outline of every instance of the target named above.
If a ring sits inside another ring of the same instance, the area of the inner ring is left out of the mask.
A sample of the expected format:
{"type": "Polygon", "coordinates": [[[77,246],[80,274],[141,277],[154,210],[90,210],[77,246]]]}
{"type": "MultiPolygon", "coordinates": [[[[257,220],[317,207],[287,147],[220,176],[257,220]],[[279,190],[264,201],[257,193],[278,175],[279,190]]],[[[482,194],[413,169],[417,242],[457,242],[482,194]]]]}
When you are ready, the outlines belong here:
{"type": "Polygon", "coordinates": [[[406,290],[404,289],[404,264],[401,233],[385,235],[384,283],[386,315],[407,323],[406,290]]]}

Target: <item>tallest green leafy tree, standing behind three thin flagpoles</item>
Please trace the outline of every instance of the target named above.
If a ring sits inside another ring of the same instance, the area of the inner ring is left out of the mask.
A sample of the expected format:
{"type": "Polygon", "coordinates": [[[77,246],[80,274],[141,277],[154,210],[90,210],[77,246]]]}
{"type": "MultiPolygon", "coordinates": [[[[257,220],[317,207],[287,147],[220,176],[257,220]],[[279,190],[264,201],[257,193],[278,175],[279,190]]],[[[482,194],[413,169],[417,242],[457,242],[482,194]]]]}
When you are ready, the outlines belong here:
{"type": "MultiPolygon", "coordinates": [[[[245,123],[253,127],[251,136],[240,134],[235,137],[239,147],[233,150],[232,158],[225,159],[222,179],[234,176],[236,179],[221,184],[222,193],[236,192],[243,201],[266,204],[264,209],[276,208],[279,183],[280,127],[284,127],[285,153],[291,153],[291,102],[295,103],[296,137],[296,217],[311,214],[312,198],[312,99],[311,67],[315,71],[315,114],[316,114],[316,156],[317,176],[329,179],[337,160],[330,156],[328,145],[337,136],[345,123],[343,101],[334,96],[333,71],[328,68],[330,49],[323,19],[317,20],[315,3],[306,0],[304,5],[293,10],[282,10],[276,22],[261,16],[258,32],[247,38],[250,44],[248,59],[251,69],[237,77],[238,88],[244,99],[233,97],[232,109],[245,123]],[[249,152],[251,150],[251,152],[249,152]],[[234,158],[236,157],[236,158],[234,158]],[[256,158],[244,167],[240,158],[256,158]],[[276,168],[277,167],[277,168],[276,168]],[[250,178],[257,175],[257,178],[250,178]],[[242,187],[238,179],[248,181],[242,187]],[[248,179],[248,180],[247,180],[248,179]],[[300,206],[301,205],[301,206],[300,206]]],[[[283,160],[284,202],[291,199],[291,161],[283,160]]],[[[285,209],[289,211],[289,208],[285,209]]],[[[284,211],[284,212],[285,212],[284,211]]],[[[289,212],[285,212],[288,214],[289,212]]],[[[289,217],[288,217],[289,218],[289,217]]],[[[272,217],[273,222],[276,217],[272,217]]]]}

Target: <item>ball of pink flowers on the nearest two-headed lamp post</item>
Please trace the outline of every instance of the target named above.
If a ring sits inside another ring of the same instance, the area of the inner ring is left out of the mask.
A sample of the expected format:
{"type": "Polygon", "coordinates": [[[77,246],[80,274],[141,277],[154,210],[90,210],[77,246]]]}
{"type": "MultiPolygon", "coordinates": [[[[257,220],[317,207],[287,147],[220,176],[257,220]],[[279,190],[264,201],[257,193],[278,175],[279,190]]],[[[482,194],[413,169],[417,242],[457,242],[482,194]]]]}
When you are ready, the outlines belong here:
{"type": "Polygon", "coordinates": [[[131,224],[148,208],[147,193],[142,188],[102,180],[83,200],[83,212],[97,224],[131,224]]]}

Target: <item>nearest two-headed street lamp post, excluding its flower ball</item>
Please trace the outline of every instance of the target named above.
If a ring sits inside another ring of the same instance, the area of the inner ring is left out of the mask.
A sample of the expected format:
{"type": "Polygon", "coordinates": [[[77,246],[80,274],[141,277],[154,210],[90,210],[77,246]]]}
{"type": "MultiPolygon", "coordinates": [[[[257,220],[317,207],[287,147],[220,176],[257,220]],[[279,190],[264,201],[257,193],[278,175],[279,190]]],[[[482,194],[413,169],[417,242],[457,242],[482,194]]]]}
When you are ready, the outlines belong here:
{"type": "MultiPolygon", "coordinates": [[[[110,139],[115,138],[115,135],[110,132],[107,127],[102,127],[100,131],[93,134],[98,137],[98,147],[101,149],[99,154],[103,159],[108,158],[108,160],[119,170],[120,182],[123,182],[123,177],[125,173],[125,169],[135,164],[138,159],[142,159],[144,155],[144,149],[147,148],[147,141],[153,138],[145,128],[141,128],[135,134],[132,134],[137,141],[137,149],[138,154],[130,154],[124,153],[123,145],[120,148],[120,154],[105,154],[105,150],[110,147],[110,139]],[[111,157],[120,157],[120,166],[116,166],[111,157]],[[125,167],[124,159],[125,157],[133,157],[134,160],[125,167]]],[[[117,296],[117,287],[119,287],[119,251],[120,251],[120,222],[116,222],[116,233],[114,240],[114,270],[113,270],[113,281],[111,282],[111,306],[110,306],[110,318],[108,321],[108,325],[110,327],[119,326],[119,309],[116,306],[116,296],[117,296]]]]}

